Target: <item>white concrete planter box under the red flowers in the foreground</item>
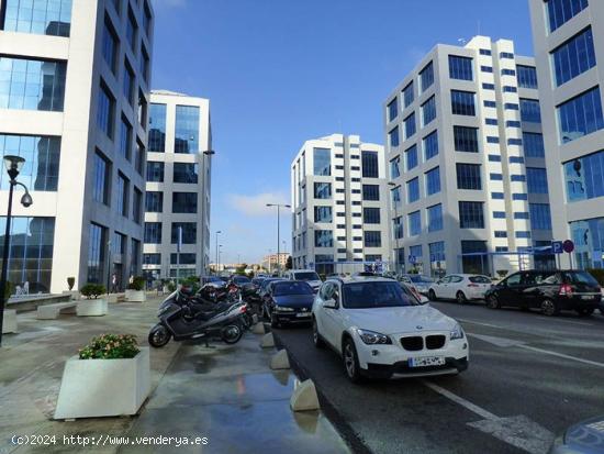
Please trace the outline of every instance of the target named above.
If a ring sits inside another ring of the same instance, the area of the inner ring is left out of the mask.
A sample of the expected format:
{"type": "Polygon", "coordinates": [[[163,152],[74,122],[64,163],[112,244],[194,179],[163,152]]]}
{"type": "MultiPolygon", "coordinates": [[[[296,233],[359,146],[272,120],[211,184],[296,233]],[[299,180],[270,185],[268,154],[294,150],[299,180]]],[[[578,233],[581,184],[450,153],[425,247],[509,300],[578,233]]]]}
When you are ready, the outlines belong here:
{"type": "Polygon", "coordinates": [[[55,419],[135,414],[150,391],[149,348],[131,359],[65,363],[55,419]]]}

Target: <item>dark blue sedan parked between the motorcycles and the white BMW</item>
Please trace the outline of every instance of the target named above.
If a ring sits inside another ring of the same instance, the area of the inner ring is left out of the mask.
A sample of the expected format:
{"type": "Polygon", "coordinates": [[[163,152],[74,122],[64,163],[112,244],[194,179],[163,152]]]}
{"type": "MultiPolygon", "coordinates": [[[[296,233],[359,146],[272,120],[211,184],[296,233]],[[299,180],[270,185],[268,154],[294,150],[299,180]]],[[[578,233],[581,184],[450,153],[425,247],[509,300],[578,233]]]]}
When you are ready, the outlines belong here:
{"type": "Polygon", "coordinates": [[[302,280],[272,283],[265,298],[264,315],[276,328],[289,323],[310,323],[313,288],[302,280]]]}

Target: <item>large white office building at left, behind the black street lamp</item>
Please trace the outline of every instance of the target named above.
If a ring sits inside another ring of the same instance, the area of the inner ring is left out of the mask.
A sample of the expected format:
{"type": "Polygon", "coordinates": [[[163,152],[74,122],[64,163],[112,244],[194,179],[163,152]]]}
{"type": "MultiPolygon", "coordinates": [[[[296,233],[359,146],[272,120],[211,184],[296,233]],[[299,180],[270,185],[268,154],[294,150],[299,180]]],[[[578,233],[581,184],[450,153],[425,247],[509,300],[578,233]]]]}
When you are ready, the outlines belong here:
{"type": "Polygon", "coordinates": [[[16,188],[13,285],[141,273],[153,22],[150,0],[0,0],[0,151],[25,158],[34,201],[16,188]]]}

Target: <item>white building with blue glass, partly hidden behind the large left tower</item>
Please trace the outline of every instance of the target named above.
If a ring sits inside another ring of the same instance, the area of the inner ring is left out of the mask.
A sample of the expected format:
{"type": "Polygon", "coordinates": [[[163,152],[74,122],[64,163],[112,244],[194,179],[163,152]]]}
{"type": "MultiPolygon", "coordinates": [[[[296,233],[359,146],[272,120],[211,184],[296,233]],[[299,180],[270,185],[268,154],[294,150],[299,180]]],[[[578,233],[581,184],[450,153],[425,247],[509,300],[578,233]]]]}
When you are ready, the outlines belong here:
{"type": "Polygon", "coordinates": [[[210,255],[210,101],[164,90],[150,101],[143,269],[150,279],[200,276],[210,255]]]}

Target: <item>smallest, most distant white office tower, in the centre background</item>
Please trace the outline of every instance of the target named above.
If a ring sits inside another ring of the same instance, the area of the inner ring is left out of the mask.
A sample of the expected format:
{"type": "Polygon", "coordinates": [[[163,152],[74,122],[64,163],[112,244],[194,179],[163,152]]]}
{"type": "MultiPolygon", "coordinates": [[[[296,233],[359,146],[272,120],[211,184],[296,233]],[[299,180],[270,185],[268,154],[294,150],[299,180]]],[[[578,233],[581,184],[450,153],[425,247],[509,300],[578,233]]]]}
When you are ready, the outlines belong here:
{"type": "Polygon", "coordinates": [[[387,195],[383,146],[343,134],[304,142],[291,165],[293,267],[383,268],[387,195]]]}

